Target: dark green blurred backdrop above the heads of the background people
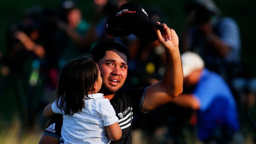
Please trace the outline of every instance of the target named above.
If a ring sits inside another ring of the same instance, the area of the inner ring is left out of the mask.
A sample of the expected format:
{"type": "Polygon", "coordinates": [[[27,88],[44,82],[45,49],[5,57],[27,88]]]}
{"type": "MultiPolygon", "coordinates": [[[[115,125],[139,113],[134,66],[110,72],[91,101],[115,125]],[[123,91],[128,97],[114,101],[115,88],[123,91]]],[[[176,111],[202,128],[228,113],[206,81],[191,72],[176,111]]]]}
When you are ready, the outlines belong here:
{"type": "MultiPolygon", "coordinates": [[[[86,20],[92,19],[93,0],[76,0],[83,10],[86,20]]],[[[183,6],[190,0],[129,0],[137,2],[143,8],[160,7],[166,15],[166,23],[173,27],[177,33],[182,31],[185,24],[183,6]]],[[[254,48],[254,33],[256,32],[256,1],[254,0],[214,0],[223,16],[232,17],[238,23],[242,38],[242,60],[247,63],[254,76],[256,49],[254,48]]],[[[0,1],[0,51],[5,51],[5,32],[8,24],[20,21],[24,12],[33,6],[56,9],[61,0],[1,0],[0,1]]]]}

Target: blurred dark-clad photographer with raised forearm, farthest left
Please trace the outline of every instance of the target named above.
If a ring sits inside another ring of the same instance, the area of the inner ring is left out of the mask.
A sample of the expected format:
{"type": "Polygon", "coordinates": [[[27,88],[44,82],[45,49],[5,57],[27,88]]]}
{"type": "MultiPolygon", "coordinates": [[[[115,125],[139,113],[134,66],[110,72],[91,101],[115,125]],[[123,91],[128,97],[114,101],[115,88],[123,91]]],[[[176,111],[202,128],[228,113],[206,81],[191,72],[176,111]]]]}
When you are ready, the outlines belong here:
{"type": "Polygon", "coordinates": [[[14,89],[25,128],[33,127],[40,106],[49,103],[49,93],[57,86],[55,25],[48,19],[52,15],[51,9],[33,6],[26,9],[20,22],[7,28],[6,50],[1,57],[5,78],[0,88],[14,89]]]}

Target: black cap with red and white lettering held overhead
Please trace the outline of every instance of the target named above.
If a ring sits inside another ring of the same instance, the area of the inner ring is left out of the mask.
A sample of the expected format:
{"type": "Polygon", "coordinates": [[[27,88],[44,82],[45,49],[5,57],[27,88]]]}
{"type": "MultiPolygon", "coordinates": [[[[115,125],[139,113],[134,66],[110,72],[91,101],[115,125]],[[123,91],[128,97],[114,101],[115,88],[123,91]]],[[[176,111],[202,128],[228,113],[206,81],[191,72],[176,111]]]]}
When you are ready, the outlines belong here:
{"type": "Polygon", "coordinates": [[[148,41],[157,40],[155,28],[161,32],[164,27],[149,19],[147,12],[134,2],[121,5],[107,18],[107,31],[114,37],[133,34],[148,41]]]}

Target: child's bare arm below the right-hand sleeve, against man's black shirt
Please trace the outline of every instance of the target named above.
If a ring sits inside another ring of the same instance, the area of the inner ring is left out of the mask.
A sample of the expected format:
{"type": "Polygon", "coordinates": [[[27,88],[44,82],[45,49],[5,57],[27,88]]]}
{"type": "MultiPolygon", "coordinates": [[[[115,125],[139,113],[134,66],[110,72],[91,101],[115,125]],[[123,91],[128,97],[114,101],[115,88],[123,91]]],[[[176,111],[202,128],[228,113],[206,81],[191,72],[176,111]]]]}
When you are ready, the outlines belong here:
{"type": "Polygon", "coordinates": [[[112,125],[106,126],[106,130],[107,135],[109,136],[111,141],[117,141],[122,136],[122,130],[117,122],[112,125]]]}

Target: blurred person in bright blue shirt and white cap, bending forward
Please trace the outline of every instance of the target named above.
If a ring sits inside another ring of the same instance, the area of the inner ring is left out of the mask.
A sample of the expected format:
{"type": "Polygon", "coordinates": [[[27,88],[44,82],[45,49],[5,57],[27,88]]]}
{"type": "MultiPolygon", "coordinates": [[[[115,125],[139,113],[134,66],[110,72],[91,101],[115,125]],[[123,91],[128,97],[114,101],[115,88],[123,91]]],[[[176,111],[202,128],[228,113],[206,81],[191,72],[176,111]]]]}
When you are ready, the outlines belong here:
{"type": "Polygon", "coordinates": [[[205,144],[226,144],[236,138],[235,142],[242,144],[242,136],[237,136],[240,129],[237,106],[228,84],[219,74],[204,68],[198,54],[185,52],[181,60],[184,86],[193,89],[172,102],[197,111],[198,139],[205,144]]]}

